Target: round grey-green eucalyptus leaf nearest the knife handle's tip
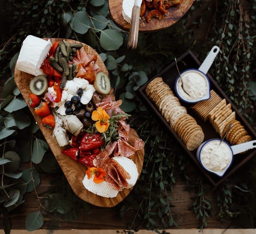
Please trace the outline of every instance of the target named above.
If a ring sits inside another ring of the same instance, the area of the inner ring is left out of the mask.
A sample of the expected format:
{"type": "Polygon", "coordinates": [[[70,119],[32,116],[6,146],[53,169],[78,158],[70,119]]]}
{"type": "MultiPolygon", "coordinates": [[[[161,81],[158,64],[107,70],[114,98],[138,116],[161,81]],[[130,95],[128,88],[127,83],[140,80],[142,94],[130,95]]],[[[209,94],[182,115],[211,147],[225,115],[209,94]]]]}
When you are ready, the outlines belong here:
{"type": "Polygon", "coordinates": [[[119,49],[122,44],[122,33],[113,29],[105,29],[100,33],[100,45],[107,51],[119,49]]]}

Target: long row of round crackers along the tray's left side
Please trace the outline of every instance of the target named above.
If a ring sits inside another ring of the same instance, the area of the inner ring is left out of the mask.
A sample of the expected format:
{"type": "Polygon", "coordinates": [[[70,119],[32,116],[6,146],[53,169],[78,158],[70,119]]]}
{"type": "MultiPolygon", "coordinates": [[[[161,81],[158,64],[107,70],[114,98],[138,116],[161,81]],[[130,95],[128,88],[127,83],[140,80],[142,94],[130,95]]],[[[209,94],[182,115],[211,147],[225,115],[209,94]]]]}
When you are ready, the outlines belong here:
{"type": "Polygon", "coordinates": [[[189,151],[195,150],[204,140],[202,128],[187,114],[170,87],[158,77],[146,87],[146,95],[155,103],[164,119],[184,142],[189,151]]]}

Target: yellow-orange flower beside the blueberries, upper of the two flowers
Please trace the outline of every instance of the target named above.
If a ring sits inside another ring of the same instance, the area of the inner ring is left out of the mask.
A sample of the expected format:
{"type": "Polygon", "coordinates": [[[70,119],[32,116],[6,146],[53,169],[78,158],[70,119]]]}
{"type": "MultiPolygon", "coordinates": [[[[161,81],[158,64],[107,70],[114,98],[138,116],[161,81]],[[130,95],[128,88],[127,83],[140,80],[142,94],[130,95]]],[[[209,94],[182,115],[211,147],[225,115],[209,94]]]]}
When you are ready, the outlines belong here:
{"type": "Polygon", "coordinates": [[[92,120],[97,121],[95,127],[100,133],[106,132],[109,128],[109,119],[109,115],[102,107],[92,112],[92,120]]]}

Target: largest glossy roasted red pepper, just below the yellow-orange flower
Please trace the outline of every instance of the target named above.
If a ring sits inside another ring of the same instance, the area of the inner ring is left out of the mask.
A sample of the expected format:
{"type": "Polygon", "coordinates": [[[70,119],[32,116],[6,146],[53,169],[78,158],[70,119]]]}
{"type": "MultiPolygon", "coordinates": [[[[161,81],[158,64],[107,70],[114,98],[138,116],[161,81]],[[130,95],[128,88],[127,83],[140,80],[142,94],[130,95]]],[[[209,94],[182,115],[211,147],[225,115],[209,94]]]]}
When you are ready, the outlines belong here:
{"type": "Polygon", "coordinates": [[[86,133],[81,139],[81,145],[79,149],[81,151],[89,151],[91,149],[99,148],[105,143],[104,140],[100,140],[101,138],[102,135],[100,133],[94,133],[93,135],[86,133]]]}

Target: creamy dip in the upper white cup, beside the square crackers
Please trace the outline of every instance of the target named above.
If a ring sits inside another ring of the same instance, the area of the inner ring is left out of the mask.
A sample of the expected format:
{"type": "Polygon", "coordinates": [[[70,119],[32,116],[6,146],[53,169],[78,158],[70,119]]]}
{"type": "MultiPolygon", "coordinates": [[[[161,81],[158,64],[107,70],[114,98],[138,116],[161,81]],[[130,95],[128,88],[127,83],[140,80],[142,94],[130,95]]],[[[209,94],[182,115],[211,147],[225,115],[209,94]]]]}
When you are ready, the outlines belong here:
{"type": "Polygon", "coordinates": [[[186,72],[177,82],[179,95],[186,100],[195,101],[202,98],[207,92],[205,78],[197,72],[186,72]],[[182,87],[183,83],[183,87],[182,87]],[[185,92],[184,92],[185,91],[185,92]],[[188,95],[189,94],[189,95],[188,95]]]}

